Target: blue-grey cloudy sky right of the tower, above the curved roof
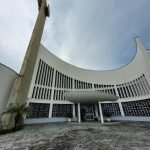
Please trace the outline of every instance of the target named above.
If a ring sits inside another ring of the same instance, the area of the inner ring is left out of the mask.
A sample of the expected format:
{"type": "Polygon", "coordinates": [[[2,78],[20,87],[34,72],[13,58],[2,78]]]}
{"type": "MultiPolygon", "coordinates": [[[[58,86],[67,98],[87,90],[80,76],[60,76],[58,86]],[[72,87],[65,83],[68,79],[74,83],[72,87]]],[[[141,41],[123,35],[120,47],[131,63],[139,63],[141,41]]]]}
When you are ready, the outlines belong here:
{"type": "Polygon", "coordinates": [[[52,3],[54,24],[45,30],[43,41],[49,50],[89,69],[114,69],[130,62],[136,52],[134,37],[143,35],[149,24],[148,0],[63,2],[52,3]]]}

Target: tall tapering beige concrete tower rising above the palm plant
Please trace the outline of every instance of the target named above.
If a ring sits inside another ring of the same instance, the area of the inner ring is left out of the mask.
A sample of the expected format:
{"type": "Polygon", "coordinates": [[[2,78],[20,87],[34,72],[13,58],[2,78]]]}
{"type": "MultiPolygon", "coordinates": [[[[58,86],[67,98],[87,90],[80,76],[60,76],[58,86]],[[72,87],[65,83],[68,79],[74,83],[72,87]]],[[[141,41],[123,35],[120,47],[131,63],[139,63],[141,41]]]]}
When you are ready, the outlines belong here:
{"type": "Polygon", "coordinates": [[[23,60],[20,73],[10,95],[9,103],[25,103],[31,83],[40,41],[46,21],[49,16],[49,6],[46,0],[38,0],[39,14],[23,60]]]}

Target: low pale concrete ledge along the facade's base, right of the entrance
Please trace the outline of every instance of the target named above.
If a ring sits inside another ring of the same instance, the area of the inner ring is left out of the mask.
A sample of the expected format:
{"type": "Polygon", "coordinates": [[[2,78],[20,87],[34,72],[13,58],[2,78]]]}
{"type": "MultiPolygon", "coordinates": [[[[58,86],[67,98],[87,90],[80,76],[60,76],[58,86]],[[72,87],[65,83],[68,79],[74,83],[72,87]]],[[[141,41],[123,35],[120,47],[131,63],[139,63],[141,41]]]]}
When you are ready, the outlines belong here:
{"type": "Polygon", "coordinates": [[[111,120],[120,121],[150,121],[150,117],[112,117],[111,120]]]}

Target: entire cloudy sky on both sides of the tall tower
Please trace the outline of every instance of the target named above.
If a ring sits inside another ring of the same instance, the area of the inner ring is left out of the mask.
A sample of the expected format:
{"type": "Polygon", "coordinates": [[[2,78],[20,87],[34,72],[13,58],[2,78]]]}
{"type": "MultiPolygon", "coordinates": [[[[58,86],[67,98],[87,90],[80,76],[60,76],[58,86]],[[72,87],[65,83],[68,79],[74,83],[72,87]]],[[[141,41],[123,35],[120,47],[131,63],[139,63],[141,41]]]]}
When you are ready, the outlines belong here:
{"type": "MultiPolygon", "coordinates": [[[[41,43],[75,66],[113,70],[136,54],[134,37],[150,48],[150,0],[48,0],[41,43]]],[[[19,72],[38,15],[37,0],[0,5],[0,63],[19,72]]]]}

